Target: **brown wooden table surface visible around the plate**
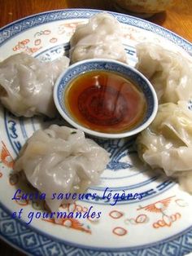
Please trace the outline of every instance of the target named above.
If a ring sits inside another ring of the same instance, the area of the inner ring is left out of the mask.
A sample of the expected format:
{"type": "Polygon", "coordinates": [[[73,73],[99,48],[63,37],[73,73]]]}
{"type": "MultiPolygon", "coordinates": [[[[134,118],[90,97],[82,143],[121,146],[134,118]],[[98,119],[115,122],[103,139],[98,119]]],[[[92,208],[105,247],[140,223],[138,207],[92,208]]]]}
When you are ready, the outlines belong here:
{"type": "MultiPolygon", "coordinates": [[[[192,42],[192,0],[177,0],[177,2],[175,7],[156,14],[149,20],[192,42]]],[[[27,15],[65,8],[116,11],[111,0],[0,0],[0,27],[27,15]]],[[[24,254],[0,241],[0,255],[20,256],[24,254]]]]}

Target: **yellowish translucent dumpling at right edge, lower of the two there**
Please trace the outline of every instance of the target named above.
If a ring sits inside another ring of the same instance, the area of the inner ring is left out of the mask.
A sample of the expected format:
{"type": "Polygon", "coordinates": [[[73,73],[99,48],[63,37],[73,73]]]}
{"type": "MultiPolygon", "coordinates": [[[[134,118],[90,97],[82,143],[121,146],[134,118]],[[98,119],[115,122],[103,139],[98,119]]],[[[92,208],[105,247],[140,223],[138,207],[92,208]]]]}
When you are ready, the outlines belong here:
{"type": "Polygon", "coordinates": [[[139,156],[153,169],[178,177],[192,192],[192,111],[187,102],[161,104],[155,120],[137,137],[139,156]]]}

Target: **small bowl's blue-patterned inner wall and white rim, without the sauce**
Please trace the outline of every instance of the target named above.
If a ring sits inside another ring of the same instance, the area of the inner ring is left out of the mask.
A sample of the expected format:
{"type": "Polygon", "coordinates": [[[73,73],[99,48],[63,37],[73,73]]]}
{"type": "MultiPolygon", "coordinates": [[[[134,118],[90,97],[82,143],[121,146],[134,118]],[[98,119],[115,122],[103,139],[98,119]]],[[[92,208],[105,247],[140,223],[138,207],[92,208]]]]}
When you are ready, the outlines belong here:
{"type": "Polygon", "coordinates": [[[138,72],[137,69],[132,68],[127,64],[120,63],[119,61],[104,59],[82,60],[76,64],[72,64],[59,76],[57,82],[55,83],[54,100],[59,113],[66,121],[68,121],[69,124],[79,130],[85,131],[85,133],[88,135],[106,139],[120,139],[136,135],[151,124],[151,121],[153,121],[155,118],[158,108],[158,99],[155,90],[151,85],[151,82],[149,82],[146,77],[142,75],[142,73],[138,72]],[[66,91],[69,88],[68,86],[70,86],[77,77],[82,76],[82,74],[85,75],[85,73],[90,72],[99,73],[100,71],[116,73],[120,77],[124,77],[125,79],[132,81],[133,84],[136,84],[137,87],[140,88],[139,90],[142,91],[142,94],[146,99],[145,115],[142,117],[141,121],[131,129],[125,129],[123,131],[113,133],[92,130],[82,125],[79,121],[77,121],[76,117],[72,117],[72,114],[68,111],[68,107],[65,102],[68,100],[65,99],[66,91]]]}

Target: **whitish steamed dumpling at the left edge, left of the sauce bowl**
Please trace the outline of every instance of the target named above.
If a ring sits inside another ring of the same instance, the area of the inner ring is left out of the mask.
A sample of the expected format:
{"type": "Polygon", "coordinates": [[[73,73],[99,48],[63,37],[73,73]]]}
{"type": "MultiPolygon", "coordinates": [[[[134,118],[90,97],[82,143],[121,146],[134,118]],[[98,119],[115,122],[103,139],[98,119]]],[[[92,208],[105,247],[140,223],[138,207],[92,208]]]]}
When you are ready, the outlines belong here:
{"type": "Polygon", "coordinates": [[[0,63],[0,100],[15,116],[54,117],[53,86],[69,60],[41,63],[25,53],[12,55],[0,63]]]}

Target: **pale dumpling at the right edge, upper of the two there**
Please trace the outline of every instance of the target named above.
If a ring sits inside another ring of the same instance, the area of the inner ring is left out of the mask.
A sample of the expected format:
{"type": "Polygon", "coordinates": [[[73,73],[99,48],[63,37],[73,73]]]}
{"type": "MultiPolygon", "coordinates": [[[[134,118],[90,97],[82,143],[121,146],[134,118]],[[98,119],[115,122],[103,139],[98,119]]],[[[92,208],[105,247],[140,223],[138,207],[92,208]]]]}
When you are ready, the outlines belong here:
{"type": "Polygon", "coordinates": [[[186,57],[148,42],[138,44],[136,51],[136,68],[151,81],[159,104],[192,98],[192,65],[186,57]]]}

